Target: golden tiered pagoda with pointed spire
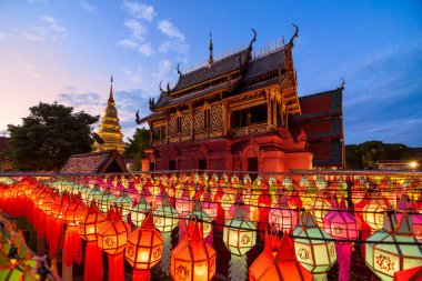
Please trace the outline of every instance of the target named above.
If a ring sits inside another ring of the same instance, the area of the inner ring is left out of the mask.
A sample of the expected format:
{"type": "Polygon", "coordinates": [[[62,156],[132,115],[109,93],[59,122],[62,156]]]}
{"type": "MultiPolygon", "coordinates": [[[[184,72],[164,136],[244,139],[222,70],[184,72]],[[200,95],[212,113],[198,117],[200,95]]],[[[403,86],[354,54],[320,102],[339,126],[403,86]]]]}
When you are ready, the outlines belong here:
{"type": "Polygon", "coordinates": [[[94,151],[117,150],[124,151],[123,134],[120,132],[118,110],[114,107],[113,99],[113,77],[111,77],[110,96],[104,109],[104,114],[101,118],[98,134],[104,141],[103,143],[96,142],[94,151]]]}

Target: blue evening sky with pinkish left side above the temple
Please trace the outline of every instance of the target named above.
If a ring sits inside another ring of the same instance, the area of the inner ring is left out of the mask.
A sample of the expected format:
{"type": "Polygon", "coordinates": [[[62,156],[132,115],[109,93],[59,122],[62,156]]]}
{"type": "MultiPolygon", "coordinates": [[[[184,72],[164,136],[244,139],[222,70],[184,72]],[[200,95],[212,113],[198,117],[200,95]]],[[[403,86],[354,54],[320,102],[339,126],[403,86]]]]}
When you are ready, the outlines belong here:
{"type": "Polygon", "coordinates": [[[345,143],[422,147],[421,1],[0,1],[0,132],[39,101],[102,114],[114,76],[125,137],[163,80],[247,46],[289,40],[299,96],[343,92],[345,143]]]}

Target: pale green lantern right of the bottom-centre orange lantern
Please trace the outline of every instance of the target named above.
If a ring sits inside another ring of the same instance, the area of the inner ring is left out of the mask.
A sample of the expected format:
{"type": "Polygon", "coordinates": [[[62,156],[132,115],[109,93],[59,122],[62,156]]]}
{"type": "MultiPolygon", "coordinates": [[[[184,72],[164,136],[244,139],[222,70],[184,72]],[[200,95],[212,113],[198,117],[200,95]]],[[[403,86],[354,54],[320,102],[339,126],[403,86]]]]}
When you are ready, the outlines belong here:
{"type": "Polygon", "coordinates": [[[328,241],[332,238],[318,227],[309,211],[303,213],[293,235],[298,260],[315,279],[325,279],[326,272],[336,260],[334,242],[328,241]]]}

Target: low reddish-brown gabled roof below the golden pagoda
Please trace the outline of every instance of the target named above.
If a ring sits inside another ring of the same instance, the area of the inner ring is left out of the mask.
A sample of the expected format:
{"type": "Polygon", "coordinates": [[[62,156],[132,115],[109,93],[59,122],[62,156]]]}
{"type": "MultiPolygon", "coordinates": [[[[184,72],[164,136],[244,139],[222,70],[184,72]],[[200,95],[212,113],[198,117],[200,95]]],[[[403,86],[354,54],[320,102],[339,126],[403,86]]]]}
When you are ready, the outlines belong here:
{"type": "Polygon", "coordinates": [[[74,154],[61,168],[60,173],[127,172],[119,152],[105,150],[96,153],[74,154]]]}

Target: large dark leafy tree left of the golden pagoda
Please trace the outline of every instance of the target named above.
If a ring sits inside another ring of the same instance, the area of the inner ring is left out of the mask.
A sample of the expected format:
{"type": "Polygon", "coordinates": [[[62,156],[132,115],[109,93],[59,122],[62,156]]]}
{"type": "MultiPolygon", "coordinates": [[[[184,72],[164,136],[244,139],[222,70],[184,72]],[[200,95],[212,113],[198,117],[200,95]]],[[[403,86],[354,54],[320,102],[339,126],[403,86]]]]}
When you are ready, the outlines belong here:
{"type": "Polygon", "coordinates": [[[72,107],[57,102],[40,102],[29,109],[22,126],[8,126],[9,155],[20,171],[57,171],[68,158],[90,152],[93,128],[99,120],[83,111],[73,113],[72,107]]]}

